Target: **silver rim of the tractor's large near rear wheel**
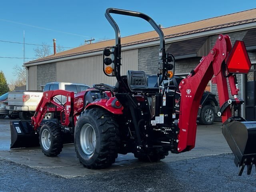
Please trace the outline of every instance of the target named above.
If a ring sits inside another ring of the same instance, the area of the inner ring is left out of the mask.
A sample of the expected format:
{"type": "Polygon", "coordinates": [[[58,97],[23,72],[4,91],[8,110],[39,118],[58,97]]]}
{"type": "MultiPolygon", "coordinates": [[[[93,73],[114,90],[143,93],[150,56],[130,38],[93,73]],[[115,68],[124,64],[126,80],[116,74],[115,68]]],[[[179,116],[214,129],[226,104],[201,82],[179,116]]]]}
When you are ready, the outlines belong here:
{"type": "Polygon", "coordinates": [[[96,134],[94,128],[90,124],[85,124],[81,129],[80,144],[86,155],[94,152],[96,145],[96,134]]]}

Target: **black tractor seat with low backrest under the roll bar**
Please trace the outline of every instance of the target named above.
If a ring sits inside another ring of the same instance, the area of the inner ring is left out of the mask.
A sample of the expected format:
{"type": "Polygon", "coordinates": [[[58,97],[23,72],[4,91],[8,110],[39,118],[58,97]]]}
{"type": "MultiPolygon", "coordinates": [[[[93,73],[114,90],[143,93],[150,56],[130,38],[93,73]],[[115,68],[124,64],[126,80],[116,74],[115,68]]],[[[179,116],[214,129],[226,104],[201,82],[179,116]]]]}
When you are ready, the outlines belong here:
{"type": "Polygon", "coordinates": [[[158,87],[148,87],[148,78],[144,71],[127,71],[128,86],[133,92],[158,92],[158,87]]]}

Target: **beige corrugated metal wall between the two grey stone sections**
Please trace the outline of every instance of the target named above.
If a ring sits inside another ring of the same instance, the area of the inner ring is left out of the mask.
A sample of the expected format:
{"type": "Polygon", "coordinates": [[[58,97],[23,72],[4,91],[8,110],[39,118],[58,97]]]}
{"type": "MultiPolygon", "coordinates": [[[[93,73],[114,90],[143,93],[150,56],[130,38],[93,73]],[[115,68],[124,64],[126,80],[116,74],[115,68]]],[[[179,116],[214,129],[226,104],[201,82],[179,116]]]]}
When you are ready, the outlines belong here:
{"type": "MultiPolygon", "coordinates": [[[[59,82],[116,84],[115,77],[108,77],[102,70],[102,55],[57,62],[56,80],[59,82]]],[[[138,49],[122,52],[121,74],[127,70],[138,70],[138,49]]]]}

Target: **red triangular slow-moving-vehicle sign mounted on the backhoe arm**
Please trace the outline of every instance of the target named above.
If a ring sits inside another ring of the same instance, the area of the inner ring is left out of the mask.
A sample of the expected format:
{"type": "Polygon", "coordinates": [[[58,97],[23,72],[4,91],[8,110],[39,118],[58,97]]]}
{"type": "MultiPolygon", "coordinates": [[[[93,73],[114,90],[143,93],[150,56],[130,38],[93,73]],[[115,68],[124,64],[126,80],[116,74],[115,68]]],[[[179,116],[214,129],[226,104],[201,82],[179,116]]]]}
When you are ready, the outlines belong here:
{"type": "Polygon", "coordinates": [[[251,62],[243,41],[236,41],[227,60],[229,73],[248,73],[251,62]]]}

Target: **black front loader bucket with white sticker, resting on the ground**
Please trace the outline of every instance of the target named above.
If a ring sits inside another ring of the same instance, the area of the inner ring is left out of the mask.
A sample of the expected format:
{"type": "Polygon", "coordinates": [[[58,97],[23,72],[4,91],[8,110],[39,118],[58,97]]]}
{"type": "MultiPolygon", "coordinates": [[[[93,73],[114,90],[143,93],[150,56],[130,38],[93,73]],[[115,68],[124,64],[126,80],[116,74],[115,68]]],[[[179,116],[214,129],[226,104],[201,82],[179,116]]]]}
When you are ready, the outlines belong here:
{"type": "Polygon", "coordinates": [[[10,148],[35,147],[39,145],[38,133],[28,121],[11,121],[10,148]]]}

